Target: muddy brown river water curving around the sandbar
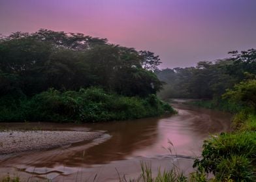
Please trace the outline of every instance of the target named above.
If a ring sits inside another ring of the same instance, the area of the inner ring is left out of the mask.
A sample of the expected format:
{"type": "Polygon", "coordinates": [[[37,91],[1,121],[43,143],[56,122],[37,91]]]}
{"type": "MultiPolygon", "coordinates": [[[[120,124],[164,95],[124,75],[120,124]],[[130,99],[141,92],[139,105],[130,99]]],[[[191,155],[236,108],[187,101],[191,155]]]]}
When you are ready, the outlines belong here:
{"type": "Polygon", "coordinates": [[[1,123],[10,129],[24,127],[74,131],[102,131],[101,138],[63,148],[0,155],[0,174],[52,181],[119,181],[140,175],[140,162],[157,169],[173,166],[193,170],[202,142],[209,135],[229,131],[231,114],[172,104],[178,114],[121,122],[57,124],[1,123]]]}

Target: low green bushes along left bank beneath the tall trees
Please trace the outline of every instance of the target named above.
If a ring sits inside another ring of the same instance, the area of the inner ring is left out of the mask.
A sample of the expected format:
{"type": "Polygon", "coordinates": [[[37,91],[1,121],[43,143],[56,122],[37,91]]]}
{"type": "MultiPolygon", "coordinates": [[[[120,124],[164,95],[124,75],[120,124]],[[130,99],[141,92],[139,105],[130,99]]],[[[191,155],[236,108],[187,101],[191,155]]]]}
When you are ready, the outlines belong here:
{"type": "Polygon", "coordinates": [[[166,112],[174,113],[174,110],[153,94],[139,98],[109,94],[100,88],[67,92],[50,89],[11,105],[1,104],[0,121],[99,122],[159,116],[166,112]]]}

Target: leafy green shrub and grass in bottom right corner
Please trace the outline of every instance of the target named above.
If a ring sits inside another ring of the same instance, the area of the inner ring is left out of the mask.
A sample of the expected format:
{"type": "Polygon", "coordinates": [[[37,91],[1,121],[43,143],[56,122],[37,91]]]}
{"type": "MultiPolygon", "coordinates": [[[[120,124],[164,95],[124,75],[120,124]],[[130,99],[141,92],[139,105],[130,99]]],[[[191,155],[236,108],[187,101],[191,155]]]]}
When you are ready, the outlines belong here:
{"type": "Polygon", "coordinates": [[[194,167],[198,166],[199,168],[203,168],[206,172],[213,172],[218,177],[227,177],[231,171],[233,174],[235,172],[239,174],[240,172],[236,171],[236,168],[231,167],[225,174],[223,174],[223,166],[230,162],[233,162],[232,165],[234,166],[234,162],[236,162],[236,164],[244,165],[245,168],[248,166],[249,170],[250,165],[255,166],[255,159],[255,132],[243,131],[237,133],[222,133],[219,136],[212,136],[204,141],[202,159],[197,159],[194,162],[194,167]],[[231,156],[233,157],[231,158],[231,156]],[[244,158],[248,159],[250,164],[248,164],[244,158]],[[239,160],[242,160],[242,162],[239,160]]]}

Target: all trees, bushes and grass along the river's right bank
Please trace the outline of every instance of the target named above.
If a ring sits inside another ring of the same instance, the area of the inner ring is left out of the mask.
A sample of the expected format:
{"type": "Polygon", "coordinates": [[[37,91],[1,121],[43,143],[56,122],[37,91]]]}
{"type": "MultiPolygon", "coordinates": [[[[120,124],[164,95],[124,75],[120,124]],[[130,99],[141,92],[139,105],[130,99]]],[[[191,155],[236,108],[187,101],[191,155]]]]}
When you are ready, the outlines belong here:
{"type": "Polygon", "coordinates": [[[162,98],[201,99],[191,104],[234,113],[232,132],[204,141],[202,158],[194,162],[196,181],[256,181],[256,50],[231,54],[228,59],[157,73],[167,82],[162,98]],[[214,179],[206,179],[210,172],[214,179]]]}

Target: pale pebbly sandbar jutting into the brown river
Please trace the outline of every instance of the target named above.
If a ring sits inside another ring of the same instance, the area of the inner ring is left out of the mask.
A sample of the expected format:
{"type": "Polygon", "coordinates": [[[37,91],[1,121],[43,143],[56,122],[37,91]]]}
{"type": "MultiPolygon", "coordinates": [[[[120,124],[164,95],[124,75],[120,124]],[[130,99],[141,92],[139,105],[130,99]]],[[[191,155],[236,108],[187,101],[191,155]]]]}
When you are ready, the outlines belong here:
{"type": "Polygon", "coordinates": [[[0,132],[0,155],[57,148],[74,142],[93,140],[102,135],[100,132],[88,131],[4,131],[0,132]]]}

